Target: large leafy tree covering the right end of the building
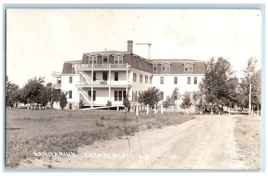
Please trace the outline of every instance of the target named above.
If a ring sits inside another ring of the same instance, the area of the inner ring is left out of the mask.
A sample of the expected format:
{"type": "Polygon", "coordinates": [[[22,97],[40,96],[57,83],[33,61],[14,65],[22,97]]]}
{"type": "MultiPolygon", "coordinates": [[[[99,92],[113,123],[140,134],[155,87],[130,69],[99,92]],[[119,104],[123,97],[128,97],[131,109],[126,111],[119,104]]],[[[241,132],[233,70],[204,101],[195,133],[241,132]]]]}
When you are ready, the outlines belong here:
{"type": "Polygon", "coordinates": [[[233,95],[237,90],[237,78],[228,61],[219,57],[217,62],[212,57],[205,63],[205,73],[199,89],[204,95],[205,103],[211,105],[213,112],[214,105],[230,106],[234,104],[233,95]]]}

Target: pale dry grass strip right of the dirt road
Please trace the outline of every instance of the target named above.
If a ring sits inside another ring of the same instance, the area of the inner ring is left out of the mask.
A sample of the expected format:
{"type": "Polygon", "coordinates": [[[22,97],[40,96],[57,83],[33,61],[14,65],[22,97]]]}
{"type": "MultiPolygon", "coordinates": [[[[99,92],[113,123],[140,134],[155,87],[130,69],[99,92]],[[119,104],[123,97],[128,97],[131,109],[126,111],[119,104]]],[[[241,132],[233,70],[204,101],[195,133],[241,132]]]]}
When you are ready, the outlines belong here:
{"type": "Polygon", "coordinates": [[[234,136],[236,145],[249,169],[260,168],[260,116],[236,117],[234,136]]]}

